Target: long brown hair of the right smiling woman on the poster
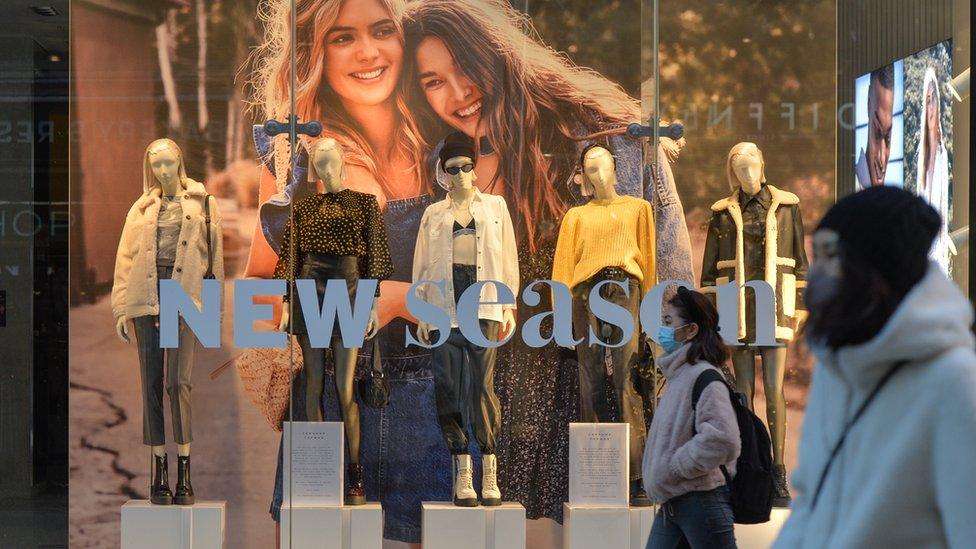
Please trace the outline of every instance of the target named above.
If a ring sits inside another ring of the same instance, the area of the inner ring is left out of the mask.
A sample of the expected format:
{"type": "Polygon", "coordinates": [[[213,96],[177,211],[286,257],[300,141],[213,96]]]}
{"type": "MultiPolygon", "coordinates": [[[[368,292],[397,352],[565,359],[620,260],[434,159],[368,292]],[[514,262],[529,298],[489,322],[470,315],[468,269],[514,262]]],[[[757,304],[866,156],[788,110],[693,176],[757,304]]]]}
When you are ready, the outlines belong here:
{"type": "MultiPolygon", "coordinates": [[[[566,211],[556,183],[573,172],[576,142],[589,132],[639,119],[640,105],[619,85],[542,45],[528,18],[501,0],[418,0],[404,17],[403,96],[428,138],[446,133],[416,78],[417,45],[442,40],[484,94],[482,119],[492,149],[509,157],[499,174],[515,224],[536,249],[536,227],[566,211]]],[[[543,225],[544,226],[544,225],[543,225]]]]}

